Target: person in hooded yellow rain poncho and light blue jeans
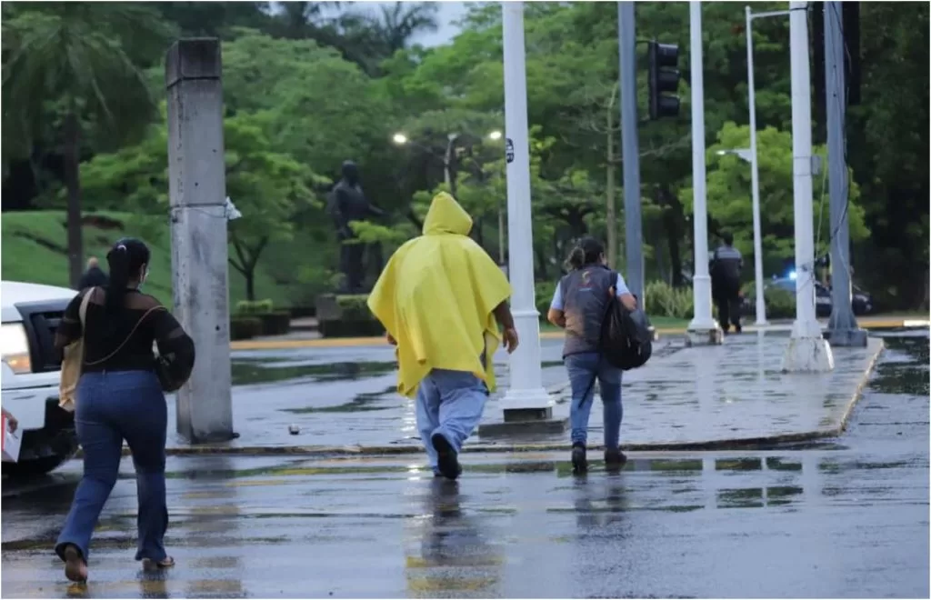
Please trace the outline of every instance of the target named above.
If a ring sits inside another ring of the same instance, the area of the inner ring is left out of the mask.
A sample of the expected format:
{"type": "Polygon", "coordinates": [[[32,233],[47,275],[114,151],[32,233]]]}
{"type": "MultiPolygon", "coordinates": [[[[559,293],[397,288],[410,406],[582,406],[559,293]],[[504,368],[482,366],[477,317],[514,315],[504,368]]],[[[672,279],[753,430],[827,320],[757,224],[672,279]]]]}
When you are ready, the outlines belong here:
{"type": "Polygon", "coordinates": [[[438,193],[424,234],[398,248],[369,295],[398,346],[398,392],[416,396],[430,467],[448,479],[462,473],[459,452],[494,390],[494,352],[501,340],[508,353],[518,346],[511,287],[471,230],[466,210],[438,193]]]}

